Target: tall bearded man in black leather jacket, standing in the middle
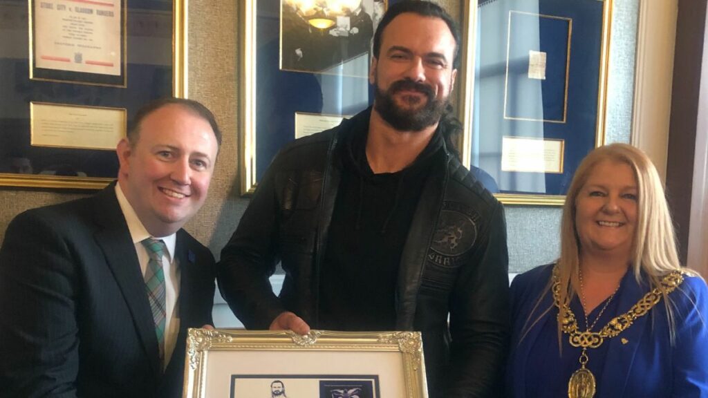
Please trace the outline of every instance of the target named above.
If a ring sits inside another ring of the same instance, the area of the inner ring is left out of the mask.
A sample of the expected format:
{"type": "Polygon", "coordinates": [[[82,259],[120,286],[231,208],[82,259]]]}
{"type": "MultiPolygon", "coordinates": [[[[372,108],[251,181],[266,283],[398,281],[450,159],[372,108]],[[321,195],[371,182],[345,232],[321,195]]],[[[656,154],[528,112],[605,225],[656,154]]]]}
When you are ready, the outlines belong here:
{"type": "Polygon", "coordinates": [[[430,397],[499,396],[506,227],[452,144],[458,52],[439,6],[389,8],[374,106],[282,149],[222,251],[219,287],[247,328],[421,331],[430,397]]]}

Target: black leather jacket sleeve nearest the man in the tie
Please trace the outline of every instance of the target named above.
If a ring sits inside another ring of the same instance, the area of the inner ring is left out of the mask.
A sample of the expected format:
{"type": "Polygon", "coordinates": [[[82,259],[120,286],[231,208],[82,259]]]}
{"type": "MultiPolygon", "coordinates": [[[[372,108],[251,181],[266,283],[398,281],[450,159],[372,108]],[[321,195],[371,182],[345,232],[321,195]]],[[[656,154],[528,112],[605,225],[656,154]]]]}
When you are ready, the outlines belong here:
{"type": "Polygon", "coordinates": [[[285,311],[268,278],[278,263],[278,198],[271,165],[217,265],[219,290],[246,329],[268,329],[285,311]]]}

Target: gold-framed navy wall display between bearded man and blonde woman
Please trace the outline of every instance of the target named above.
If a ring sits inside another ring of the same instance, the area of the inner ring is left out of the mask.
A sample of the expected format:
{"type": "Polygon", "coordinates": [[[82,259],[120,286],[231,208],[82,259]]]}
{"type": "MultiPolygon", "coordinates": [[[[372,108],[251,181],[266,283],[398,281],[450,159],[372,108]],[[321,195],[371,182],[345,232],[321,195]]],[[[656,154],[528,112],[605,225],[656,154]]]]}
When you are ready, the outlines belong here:
{"type": "Polygon", "coordinates": [[[562,205],[605,142],[612,0],[480,0],[464,157],[503,203],[562,205]]]}

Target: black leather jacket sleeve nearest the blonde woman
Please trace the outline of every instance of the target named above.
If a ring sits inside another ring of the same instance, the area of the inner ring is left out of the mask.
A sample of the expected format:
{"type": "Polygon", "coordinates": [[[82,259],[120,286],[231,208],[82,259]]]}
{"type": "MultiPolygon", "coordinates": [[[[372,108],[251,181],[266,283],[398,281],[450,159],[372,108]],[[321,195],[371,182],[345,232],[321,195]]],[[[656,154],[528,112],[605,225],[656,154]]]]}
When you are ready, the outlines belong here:
{"type": "Polygon", "coordinates": [[[445,397],[500,397],[509,339],[506,220],[496,203],[450,297],[450,387],[445,397]]]}

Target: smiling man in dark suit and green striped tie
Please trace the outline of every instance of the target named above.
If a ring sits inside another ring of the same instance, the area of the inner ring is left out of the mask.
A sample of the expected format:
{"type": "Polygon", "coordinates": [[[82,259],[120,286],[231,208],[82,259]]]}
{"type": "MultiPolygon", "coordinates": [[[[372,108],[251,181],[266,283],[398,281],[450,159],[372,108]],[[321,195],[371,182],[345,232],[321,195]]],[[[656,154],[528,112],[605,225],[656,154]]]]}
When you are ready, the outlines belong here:
{"type": "Polygon", "coordinates": [[[212,323],[215,266],[181,227],[221,135],[200,103],[138,111],[118,183],[18,215],[0,249],[0,396],[181,397],[186,329],[212,323]]]}

